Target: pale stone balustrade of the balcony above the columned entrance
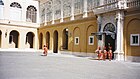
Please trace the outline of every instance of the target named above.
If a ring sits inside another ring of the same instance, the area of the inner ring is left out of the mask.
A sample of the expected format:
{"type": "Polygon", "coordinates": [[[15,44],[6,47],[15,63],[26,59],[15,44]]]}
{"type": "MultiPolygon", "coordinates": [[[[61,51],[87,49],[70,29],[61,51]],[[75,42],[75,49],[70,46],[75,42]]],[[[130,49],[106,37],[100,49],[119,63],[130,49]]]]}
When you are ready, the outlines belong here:
{"type": "Polygon", "coordinates": [[[103,5],[99,5],[93,8],[94,14],[101,14],[111,12],[120,9],[129,9],[140,7],[140,0],[114,0],[110,3],[104,2],[103,5]]]}

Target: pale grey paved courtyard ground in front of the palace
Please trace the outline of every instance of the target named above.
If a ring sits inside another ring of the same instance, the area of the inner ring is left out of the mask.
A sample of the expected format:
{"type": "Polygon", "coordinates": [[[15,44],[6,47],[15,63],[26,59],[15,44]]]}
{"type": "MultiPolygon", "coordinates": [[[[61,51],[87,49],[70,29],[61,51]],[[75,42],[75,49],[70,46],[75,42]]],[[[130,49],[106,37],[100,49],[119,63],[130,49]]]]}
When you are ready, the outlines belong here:
{"type": "Polygon", "coordinates": [[[140,63],[36,52],[0,52],[0,79],[140,79],[140,63]]]}

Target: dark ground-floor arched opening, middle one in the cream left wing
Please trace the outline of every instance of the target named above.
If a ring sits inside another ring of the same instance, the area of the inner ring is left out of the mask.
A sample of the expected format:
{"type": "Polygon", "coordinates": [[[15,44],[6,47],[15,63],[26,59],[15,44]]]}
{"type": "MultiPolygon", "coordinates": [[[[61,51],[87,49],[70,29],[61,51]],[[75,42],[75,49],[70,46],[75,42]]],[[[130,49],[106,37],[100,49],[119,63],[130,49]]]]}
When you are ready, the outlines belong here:
{"type": "Polygon", "coordinates": [[[19,43],[19,33],[16,30],[10,32],[9,43],[13,45],[14,48],[18,48],[19,43]]]}

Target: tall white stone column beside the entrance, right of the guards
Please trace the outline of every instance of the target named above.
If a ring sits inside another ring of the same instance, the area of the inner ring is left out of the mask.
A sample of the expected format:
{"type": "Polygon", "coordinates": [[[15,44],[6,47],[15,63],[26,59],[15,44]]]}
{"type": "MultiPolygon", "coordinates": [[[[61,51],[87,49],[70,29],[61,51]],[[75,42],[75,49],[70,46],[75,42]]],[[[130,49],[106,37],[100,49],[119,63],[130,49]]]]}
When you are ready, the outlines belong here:
{"type": "Polygon", "coordinates": [[[123,51],[123,26],[124,26],[124,12],[117,11],[116,13],[116,24],[117,24],[117,48],[114,52],[114,58],[118,61],[124,60],[123,51]]]}

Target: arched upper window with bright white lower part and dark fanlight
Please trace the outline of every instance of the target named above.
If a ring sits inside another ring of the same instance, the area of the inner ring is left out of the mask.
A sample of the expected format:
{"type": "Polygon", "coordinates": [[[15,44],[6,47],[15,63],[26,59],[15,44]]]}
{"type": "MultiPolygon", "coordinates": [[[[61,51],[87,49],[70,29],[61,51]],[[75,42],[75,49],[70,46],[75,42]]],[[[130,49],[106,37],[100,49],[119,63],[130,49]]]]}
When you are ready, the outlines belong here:
{"type": "Polygon", "coordinates": [[[10,20],[21,20],[21,8],[21,5],[17,2],[13,2],[10,4],[10,20]]]}

